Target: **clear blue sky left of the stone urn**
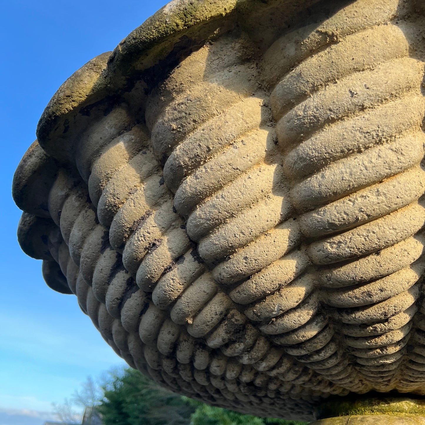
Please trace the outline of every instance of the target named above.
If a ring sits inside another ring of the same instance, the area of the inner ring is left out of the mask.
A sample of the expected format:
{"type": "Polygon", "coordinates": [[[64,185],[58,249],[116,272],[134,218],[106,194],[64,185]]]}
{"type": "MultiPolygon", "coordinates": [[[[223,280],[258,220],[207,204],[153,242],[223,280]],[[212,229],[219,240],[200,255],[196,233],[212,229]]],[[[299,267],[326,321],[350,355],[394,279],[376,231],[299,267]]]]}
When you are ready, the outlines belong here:
{"type": "Polygon", "coordinates": [[[49,289],[41,261],[20,250],[11,181],[59,85],[164,3],[0,0],[0,425],[42,424],[51,402],[69,397],[88,375],[122,364],[76,298],[49,289]]]}

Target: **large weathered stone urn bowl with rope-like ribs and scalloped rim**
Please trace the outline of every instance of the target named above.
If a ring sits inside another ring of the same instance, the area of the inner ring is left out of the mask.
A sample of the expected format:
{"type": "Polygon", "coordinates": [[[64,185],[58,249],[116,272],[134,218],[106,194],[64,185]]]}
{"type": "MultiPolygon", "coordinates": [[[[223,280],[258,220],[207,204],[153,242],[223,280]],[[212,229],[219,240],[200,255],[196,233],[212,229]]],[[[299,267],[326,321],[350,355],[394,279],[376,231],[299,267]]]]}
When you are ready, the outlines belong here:
{"type": "Polygon", "coordinates": [[[167,388],[314,419],[425,394],[422,1],[173,1],[84,65],[18,238],[167,388]]]}

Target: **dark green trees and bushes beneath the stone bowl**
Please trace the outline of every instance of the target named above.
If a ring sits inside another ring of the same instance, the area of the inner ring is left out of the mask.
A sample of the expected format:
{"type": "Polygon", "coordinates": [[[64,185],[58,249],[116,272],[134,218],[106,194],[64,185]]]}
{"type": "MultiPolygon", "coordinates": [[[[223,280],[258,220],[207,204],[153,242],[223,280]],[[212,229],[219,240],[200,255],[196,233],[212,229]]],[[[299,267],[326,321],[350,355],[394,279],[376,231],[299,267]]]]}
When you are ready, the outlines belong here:
{"type": "Polygon", "coordinates": [[[97,407],[105,425],[303,425],[213,407],[167,391],[135,369],[115,374],[97,407]]]}

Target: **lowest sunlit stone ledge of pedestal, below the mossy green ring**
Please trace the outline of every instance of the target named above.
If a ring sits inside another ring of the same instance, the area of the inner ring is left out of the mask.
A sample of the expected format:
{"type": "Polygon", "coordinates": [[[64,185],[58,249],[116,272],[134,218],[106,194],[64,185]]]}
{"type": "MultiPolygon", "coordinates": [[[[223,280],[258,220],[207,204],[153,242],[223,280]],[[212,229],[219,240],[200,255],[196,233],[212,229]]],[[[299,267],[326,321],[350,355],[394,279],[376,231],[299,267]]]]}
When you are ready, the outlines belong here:
{"type": "Polygon", "coordinates": [[[425,425],[425,416],[351,415],[320,419],[310,425],[425,425]]]}

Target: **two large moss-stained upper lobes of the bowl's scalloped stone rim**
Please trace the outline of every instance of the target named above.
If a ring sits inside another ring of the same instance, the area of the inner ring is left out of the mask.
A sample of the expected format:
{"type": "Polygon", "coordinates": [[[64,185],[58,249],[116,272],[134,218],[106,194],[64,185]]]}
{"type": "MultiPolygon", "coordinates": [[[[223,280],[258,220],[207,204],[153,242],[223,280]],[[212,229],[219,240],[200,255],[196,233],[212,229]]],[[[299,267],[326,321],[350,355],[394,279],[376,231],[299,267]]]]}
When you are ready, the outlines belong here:
{"type": "MultiPolygon", "coordinates": [[[[253,3],[264,6],[264,2],[258,0],[173,0],[168,3],[133,30],[112,52],[91,59],[59,87],[40,117],[38,141],[41,145],[48,142],[64,116],[100,101],[120,86],[131,84],[129,80],[134,77],[140,78],[142,71],[163,60],[183,37],[194,37],[200,26],[209,28],[216,20],[253,3]],[[134,63],[136,59],[139,59],[138,66],[134,63]]],[[[207,34],[201,34],[200,40],[191,44],[205,42],[206,37],[207,34]]]]}

